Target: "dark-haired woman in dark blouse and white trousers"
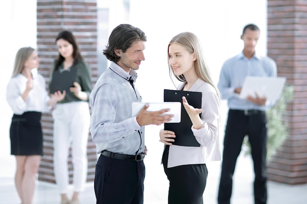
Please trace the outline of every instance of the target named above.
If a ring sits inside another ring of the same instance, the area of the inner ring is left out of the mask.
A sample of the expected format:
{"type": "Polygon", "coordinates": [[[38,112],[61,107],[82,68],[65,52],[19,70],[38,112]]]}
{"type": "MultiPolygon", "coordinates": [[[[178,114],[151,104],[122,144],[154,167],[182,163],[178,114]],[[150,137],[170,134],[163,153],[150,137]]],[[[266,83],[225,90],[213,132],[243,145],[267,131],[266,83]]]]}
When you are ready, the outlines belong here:
{"type": "Polygon", "coordinates": [[[84,188],[87,175],[86,150],[90,126],[88,99],[92,90],[92,82],[90,68],[83,61],[72,32],[67,30],[59,32],[55,43],[59,56],[53,63],[53,71],[77,69],[77,77],[74,87],[70,88],[65,98],[57,103],[52,112],[54,175],[61,194],[61,204],[78,204],[78,194],[84,188]],[[67,162],[71,142],[74,194],[72,200],[69,201],[67,162]]]}

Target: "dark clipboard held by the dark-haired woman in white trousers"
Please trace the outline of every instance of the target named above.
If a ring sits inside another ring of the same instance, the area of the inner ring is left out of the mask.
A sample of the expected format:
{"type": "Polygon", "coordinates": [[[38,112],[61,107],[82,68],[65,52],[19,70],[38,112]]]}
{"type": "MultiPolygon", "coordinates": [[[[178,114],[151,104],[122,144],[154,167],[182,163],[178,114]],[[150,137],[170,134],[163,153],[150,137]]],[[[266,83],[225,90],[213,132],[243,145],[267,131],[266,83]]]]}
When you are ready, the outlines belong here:
{"type": "Polygon", "coordinates": [[[49,85],[50,93],[64,90],[70,92],[69,88],[74,87],[77,79],[77,68],[55,70],[52,73],[52,81],[49,85]]]}

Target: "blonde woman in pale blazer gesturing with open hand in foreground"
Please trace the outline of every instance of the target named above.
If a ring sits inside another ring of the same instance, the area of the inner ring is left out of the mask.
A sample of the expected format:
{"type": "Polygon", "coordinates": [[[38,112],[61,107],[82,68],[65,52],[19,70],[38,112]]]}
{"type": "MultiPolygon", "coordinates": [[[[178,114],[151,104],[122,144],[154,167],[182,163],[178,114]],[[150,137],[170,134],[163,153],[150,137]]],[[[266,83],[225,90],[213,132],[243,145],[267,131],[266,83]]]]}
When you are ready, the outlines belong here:
{"type": "Polygon", "coordinates": [[[202,92],[201,109],[195,109],[185,97],[182,98],[199,147],[174,145],[176,132],[160,131],[160,141],[165,144],[162,163],[170,181],[168,204],[203,204],[208,174],[206,163],[222,159],[220,94],[212,82],[201,42],[195,34],[180,33],[170,41],[168,65],[171,77],[174,75],[182,82],[178,90],[202,92]]]}

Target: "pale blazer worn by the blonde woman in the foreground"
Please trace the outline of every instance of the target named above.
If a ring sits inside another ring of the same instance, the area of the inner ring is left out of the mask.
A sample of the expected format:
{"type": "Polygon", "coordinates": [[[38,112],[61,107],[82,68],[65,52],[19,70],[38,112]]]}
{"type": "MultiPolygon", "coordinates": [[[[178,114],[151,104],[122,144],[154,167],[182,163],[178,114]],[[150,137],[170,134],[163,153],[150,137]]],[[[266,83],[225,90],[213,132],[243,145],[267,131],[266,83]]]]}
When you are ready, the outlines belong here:
{"type": "MultiPolygon", "coordinates": [[[[185,83],[178,87],[182,90],[185,83]]],[[[208,161],[222,160],[220,148],[220,103],[215,89],[202,79],[198,79],[189,91],[202,92],[202,116],[204,125],[201,129],[191,130],[200,147],[171,145],[167,167],[186,164],[204,164],[208,161]]],[[[189,101],[188,101],[189,102],[189,101]]],[[[176,133],[175,133],[176,134],[176,133]]]]}

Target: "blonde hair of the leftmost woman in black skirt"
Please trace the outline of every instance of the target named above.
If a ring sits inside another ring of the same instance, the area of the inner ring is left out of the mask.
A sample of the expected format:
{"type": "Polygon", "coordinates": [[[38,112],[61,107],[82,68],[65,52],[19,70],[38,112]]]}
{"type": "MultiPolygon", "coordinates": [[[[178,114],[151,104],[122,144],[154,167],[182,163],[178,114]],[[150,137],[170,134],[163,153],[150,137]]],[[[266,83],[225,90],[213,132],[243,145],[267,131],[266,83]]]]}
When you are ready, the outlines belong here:
{"type": "Polygon", "coordinates": [[[22,72],[22,70],[25,68],[26,60],[29,59],[33,51],[34,48],[32,47],[22,47],[18,50],[15,57],[12,77],[22,72]]]}

